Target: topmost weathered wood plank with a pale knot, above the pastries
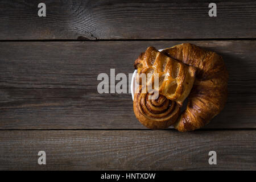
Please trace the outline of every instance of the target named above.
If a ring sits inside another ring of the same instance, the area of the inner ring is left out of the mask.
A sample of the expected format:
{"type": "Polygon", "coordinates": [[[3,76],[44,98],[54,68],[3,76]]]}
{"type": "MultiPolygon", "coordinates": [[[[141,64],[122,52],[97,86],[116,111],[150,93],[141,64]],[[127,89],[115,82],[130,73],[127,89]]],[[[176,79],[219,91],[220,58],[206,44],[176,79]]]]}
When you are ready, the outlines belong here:
{"type": "Polygon", "coordinates": [[[214,1],[1,1],[0,39],[255,38],[256,2],[214,1]],[[47,16],[38,17],[46,3],[47,16]]]}

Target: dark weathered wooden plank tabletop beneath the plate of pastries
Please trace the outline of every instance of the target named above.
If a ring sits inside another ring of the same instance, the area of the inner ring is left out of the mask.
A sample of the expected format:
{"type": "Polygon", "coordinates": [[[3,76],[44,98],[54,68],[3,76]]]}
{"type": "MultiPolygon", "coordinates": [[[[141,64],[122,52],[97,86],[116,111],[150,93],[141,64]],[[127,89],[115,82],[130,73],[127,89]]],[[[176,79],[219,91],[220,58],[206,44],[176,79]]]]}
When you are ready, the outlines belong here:
{"type": "Polygon", "coordinates": [[[256,2],[214,2],[217,17],[209,1],[1,1],[0,169],[255,170],[256,2]],[[225,109],[203,129],[148,130],[131,94],[97,92],[99,73],[184,42],[229,71],[225,109]]]}

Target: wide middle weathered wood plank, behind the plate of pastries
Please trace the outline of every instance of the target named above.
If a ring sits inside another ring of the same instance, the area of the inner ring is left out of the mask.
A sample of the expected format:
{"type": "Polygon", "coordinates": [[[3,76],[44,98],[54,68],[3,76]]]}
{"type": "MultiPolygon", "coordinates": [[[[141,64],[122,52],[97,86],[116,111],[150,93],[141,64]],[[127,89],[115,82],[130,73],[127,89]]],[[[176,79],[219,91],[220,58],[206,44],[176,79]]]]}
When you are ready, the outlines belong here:
{"type": "MultiPolygon", "coordinates": [[[[0,129],[146,129],[130,94],[98,94],[98,73],[132,73],[147,46],[181,42],[2,42],[0,129]]],[[[220,53],[228,103],[209,129],[256,128],[255,41],[192,42],[220,53]]]]}

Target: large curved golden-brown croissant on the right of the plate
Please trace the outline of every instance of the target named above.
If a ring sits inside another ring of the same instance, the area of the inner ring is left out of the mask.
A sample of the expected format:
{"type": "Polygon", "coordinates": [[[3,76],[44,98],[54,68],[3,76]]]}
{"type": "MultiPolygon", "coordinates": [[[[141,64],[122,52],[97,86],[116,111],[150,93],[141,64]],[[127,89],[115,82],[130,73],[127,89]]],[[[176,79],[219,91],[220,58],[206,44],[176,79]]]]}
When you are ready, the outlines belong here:
{"type": "Polygon", "coordinates": [[[175,123],[179,131],[199,129],[224,108],[228,94],[228,71],[221,56],[184,43],[163,53],[197,68],[196,80],[188,96],[187,109],[175,123]]]}

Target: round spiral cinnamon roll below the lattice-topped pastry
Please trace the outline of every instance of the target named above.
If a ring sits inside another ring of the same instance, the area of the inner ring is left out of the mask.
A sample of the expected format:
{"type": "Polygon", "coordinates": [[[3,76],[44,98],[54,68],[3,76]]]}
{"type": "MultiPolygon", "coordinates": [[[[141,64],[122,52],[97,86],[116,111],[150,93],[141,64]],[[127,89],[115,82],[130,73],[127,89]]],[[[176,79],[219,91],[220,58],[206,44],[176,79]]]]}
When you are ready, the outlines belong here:
{"type": "Polygon", "coordinates": [[[134,95],[133,108],[137,119],[149,129],[166,129],[174,124],[180,112],[176,102],[159,95],[155,100],[150,100],[150,93],[139,86],[134,95]]]}

